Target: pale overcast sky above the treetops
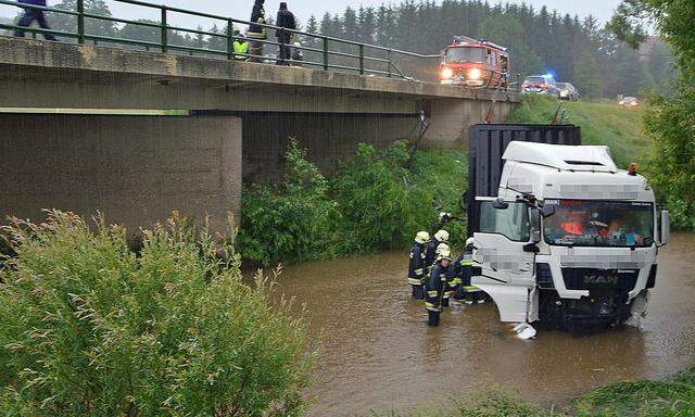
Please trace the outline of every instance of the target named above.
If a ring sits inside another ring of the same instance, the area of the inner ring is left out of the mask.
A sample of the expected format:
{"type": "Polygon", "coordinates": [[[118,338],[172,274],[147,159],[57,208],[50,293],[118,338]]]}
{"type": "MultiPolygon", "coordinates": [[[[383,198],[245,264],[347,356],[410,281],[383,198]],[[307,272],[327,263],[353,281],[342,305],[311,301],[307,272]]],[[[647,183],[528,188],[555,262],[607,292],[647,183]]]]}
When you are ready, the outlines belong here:
{"type": "MultiPolygon", "coordinates": [[[[53,5],[59,0],[49,0],[49,5],[53,5]]],[[[253,0],[144,0],[151,3],[167,4],[181,9],[195,10],[202,12],[208,12],[217,15],[237,17],[241,20],[249,20],[251,15],[251,8],[253,0]]],[[[301,22],[306,22],[309,15],[314,14],[320,17],[325,12],[339,13],[345,10],[348,5],[357,9],[363,5],[379,5],[382,2],[389,3],[390,1],[383,0],[286,0],[289,9],[294,12],[296,17],[301,22]]],[[[505,0],[504,2],[506,2],[505,0]]],[[[159,20],[156,13],[148,11],[144,8],[138,8],[129,4],[118,3],[113,0],[106,0],[113,14],[117,17],[125,18],[153,18],[159,20]]],[[[440,0],[437,0],[439,3],[440,0]]],[[[509,2],[521,3],[521,1],[509,0],[509,2]]],[[[548,9],[556,9],[558,12],[570,13],[571,15],[578,14],[581,17],[592,14],[596,16],[601,22],[606,22],[612,15],[612,11],[620,3],[620,0],[526,0],[527,4],[533,4],[540,9],[542,5],[547,5],[548,9]]],[[[279,0],[266,0],[266,12],[268,15],[275,16],[277,12],[279,0]]],[[[396,1],[397,3],[397,1],[396,1]]],[[[491,4],[494,4],[494,0],[490,0],[491,4]]],[[[16,9],[12,7],[0,5],[0,15],[13,16],[16,13],[16,9]]],[[[186,17],[182,15],[172,16],[170,22],[177,25],[197,26],[202,25],[204,27],[211,26],[210,21],[195,20],[186,17]]]]}

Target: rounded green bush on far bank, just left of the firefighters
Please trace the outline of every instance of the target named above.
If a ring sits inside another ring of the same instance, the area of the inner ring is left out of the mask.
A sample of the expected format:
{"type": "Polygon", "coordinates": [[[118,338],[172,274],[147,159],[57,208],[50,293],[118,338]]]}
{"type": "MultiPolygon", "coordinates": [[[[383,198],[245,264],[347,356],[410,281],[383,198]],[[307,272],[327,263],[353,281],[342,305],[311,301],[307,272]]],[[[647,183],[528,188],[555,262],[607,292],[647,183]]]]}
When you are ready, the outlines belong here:
{"type": "Polygon", "coordinates": [[[403,248],[432,216],[432,193],[416,187],[406,168],[407,142],[382,152],[361,143],[330,179],[342,214],[341,252],[403,248]]]}

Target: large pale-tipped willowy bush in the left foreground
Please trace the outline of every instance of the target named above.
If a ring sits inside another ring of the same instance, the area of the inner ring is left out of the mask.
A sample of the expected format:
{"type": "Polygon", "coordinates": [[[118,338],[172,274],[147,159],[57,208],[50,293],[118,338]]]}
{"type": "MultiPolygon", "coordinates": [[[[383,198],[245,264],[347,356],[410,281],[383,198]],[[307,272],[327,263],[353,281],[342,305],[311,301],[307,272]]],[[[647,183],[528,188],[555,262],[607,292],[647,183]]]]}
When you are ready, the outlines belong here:
{"type": "Polygon", "coordinates": [[[302,410],[306,326],[270,306],[262,276],[242,283],[233,235],[216,244],[174,216],[136,256],[123,228],[73,214],[5,231],[18,256],[0,270],[4,415],[302,410]]]}

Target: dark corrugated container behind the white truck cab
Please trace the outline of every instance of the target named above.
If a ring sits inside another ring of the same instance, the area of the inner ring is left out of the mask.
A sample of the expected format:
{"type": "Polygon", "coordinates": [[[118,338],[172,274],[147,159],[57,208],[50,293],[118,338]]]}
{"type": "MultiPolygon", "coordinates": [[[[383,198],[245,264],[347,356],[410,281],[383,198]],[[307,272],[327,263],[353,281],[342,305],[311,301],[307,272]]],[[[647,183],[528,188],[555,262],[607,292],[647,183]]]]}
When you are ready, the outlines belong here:
{"type": "Polygon", "coordinates": [[[468,139],[468,236],[480,226],[476,197],[497,195],[502,155],[513,140],[581,144],[581,130],[574,125],[472,125],[468,139]]]}

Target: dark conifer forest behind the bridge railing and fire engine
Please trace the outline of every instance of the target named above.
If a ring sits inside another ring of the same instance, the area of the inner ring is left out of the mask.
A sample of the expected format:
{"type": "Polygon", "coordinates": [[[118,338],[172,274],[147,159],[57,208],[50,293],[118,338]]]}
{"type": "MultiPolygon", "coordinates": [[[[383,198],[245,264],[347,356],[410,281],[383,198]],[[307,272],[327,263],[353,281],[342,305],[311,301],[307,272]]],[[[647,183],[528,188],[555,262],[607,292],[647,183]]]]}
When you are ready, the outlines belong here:
{"type": "MultiPolygon", "coordinates": [[[[55,8],[76,10],[75,0],[61,0],[55,8]]],[[[99,15],[112,15],[103,0],[85,0],[85,10],[99,15]]],[[[249,11],[250,13],[250,11],[249,11]]],[[[268,15],[271,13],[268,12],[268,15]]],[[[74,31],[76,16],[49,13],[51,25],[58,30],[74,31]]],[[[615,98],[617,94],[637,96],[640,91],[654,89],[670,94],[675,78],[669,47],[654,39],[648,53],[640,59],[640,52],[618,40],[612,31],[593,16],[579,18],[543,7],[528,4],[491,4],[480,0],[403,0],[399,4],[353,9],[343,13],[323,16],[301,16],[302,29],[338,38],[376,43],[384,47],[437,54],[456,35],[490,39],[509,48],[513,73],[531,74],[551,71],[558,80],[573,83],[583,97],[615,98]]],[[[271,22],[271,20],[269,20],[271,22]]],[[[159,23],[156,20],[139,20],[141,23],[159,23]]],[[[227,34],[224,22],[210,27],[191,27],[213,34],[227,34]]],[[[243,27],[238,27],[243,30],[243,27]]],[[[86,20],[88,34],[159,42],[157,27],[115,22],[86,20]]],[[[270,40],[274,40],[270,37],[270,40]]],[[[319,39],[300,39],[305,47],[321,49],[319,39]]],[[[169,45],[225,51],[226,39],[202,34],[169,30],[169,45]]],[[[331,50],[355,53],[349,46],[332,43],[331,50]]],[[[273,53],[275,47],[267,47],[273,53]]],[[[375,51],[372,51],[375,53],[375,51]]],[[[309,61],[321,60],[318,53],[306,53],[309,61]]],[[[334,64],[350,64],[349,59],[336,59],[334,64]]],[[[412,68],[413,62],[402,62],[412,68]]],[[[434,75],[435,61],[421,64],[415,73],[425,79],[434,75]]],[[[377,68],[377,67],[375,67],[377,68]]],[[[383,70],[383,68],[379,68],[383,70]]]]}

